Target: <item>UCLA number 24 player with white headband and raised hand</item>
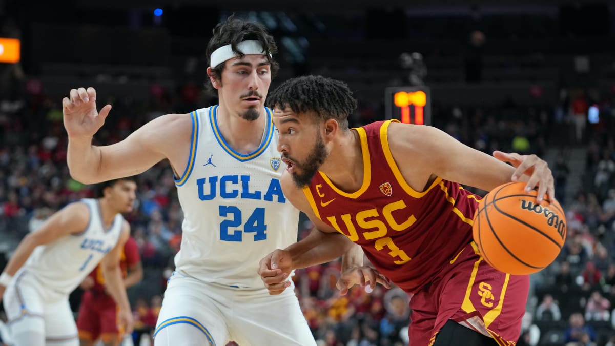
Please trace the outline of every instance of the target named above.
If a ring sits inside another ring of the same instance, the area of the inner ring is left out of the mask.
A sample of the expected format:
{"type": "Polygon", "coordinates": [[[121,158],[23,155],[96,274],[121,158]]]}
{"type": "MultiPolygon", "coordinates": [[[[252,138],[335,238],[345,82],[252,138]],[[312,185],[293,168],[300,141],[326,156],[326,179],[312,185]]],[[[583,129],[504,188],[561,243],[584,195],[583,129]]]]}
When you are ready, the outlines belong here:
{"type": "MultiPolygon", "coordinates": [[[[92,146],[92,136],[111,105],[98,113],[93,88],[73,89],[63,100],[74,179],[133,175],[163,159],[175,172],[185,220],[157,346],[315,345],[293,290],[269,296],[257,272],[264,255],[297,238],[298,211],[282,195],[277,134],[264,107],[276,51],[262,25],[218,24],[207,73],[220,105],[161,116],[106,147],[92,146]]],[[[360,265],[362,256],[352,251],[346,264],[360,265]]]]}

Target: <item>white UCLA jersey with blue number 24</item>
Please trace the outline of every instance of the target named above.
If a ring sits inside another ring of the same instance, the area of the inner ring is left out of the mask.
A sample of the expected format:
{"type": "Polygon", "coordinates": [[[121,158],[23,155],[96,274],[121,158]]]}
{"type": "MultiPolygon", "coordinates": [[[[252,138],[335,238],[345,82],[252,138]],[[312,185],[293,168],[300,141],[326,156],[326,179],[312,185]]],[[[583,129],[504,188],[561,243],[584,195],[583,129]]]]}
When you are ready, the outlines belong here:
{"type": "Polygon", "coordinates": [[[263,288],[258,262],[296,242],[299,211],[282,194],[271,110],[264,112],[261,145],[242,155],[220,134],[217,109],[190,113],[188,166],[175,180],[184,212],[176,270],[207,282],[263,288]]]}

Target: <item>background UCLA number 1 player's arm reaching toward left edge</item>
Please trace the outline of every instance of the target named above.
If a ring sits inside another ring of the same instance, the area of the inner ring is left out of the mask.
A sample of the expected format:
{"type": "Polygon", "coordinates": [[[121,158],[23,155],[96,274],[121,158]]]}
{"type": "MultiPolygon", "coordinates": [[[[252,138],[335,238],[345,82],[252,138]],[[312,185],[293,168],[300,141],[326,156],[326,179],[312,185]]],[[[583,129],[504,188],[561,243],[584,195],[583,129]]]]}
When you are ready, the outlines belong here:
{"type": "Polygon", "coordinates": [[[30,254],[39,245],[53,243],[71,233],[78,233],[87,227],[90,209],[84,203],[71,203],[61,211],[51,215],[38,230],[28,233],[15,249],[15,254],[2,272],[7,282],[0,283],[0,300],[12,276],[23,267],[30,254]]]}

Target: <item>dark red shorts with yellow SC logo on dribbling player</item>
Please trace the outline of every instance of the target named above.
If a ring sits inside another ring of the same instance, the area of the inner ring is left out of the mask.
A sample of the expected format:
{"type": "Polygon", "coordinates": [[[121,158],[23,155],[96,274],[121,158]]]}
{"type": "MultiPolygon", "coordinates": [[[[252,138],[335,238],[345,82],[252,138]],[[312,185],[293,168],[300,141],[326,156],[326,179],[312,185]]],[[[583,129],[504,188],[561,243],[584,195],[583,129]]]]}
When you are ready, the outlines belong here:
{"type": "Polygon", "coordinates": [[[499,272],[472,242],[411,297],[410,346],[432,345],[448,320],[491,336],[499,345],[514,345],[529,289],[529,276],[499,272]]]}

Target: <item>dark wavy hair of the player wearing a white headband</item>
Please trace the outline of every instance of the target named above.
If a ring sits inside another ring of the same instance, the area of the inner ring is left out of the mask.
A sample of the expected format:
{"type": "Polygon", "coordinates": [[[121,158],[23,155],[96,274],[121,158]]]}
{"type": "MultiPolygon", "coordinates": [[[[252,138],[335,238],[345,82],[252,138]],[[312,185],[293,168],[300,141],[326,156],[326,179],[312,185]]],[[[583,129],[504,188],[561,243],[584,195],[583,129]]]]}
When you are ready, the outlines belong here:
{"type": "MultiPolygon", "coordinates": [[[[263,45],[264,54],[267,60],[271,64],[271,76],[276,76],[279,70],[279,64],[271,56],[277,53],[276,41],[273,36],[269,34],[267,29],[261,23],[248,22],[247,20],[235,18],[234,15],[228,17],[226,22],[220,22],[213,28],[213,37],[207,43],[207,49],[205,49],[205,55],[207,55],[207,66],[210,65],[210,58],[214,50],[231,45],[232,51],[244,57],[240,50],[237,50],[237,44],[242,41],[259,41],[263,45]]],[[[218,66],[212,66],[212,73],[215,79],[221,82],[222,71],[224,70],[224,62],[218,64],[218,66]]],[[[218,91],[212,86],[212,83],[205,82],[205,87],[208,91],[218,94],[218,91]]]]}

